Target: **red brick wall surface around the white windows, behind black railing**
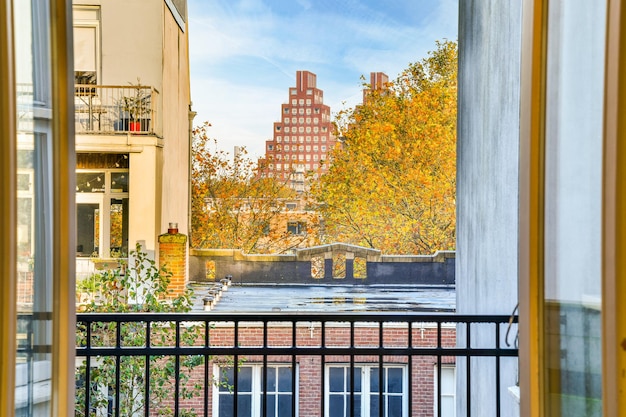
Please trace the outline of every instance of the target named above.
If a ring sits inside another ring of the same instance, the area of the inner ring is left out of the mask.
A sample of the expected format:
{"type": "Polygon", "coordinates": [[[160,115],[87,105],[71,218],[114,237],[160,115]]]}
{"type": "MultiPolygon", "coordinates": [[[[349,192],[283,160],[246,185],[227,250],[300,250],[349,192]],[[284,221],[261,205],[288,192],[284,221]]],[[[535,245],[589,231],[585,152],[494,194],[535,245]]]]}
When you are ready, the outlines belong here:
{"type": "MultiPolygon", "coordinates": [[[[267,346],[287,347],[292,345],[292,327],[268,326],[267,346]]],[[[218,324],[210,330],[210,346],[212,347],[232,347],[235,343],[234,329],[226,324],[218,324]]],[[[412,344],[414,347],[436,347],[437,328],[436,326],[414,325],[412,329],[412,344]]],[[[240,347],[258,347],[263,345],[263,327],[239,326],[238,345],[240,347]]],[[[321,326],[314,323],[313,326],[298,325],[296,328],[296,346],[298,347],[319,347],[322,343],[321,326]]],[[[355,324],[354,346],[355,347],[378,347],[379,329],[365,323],[355,324]]],[[[350,326],[341,323],[327,324],[325,334],[325,345],[327,347],[349,347],[350,346],[350,326]]],[[[388,324],[383,329],[383,345],[385,347],[407,347],[408,328],[401,324],[388,324]]],[[[442,327],[441,345],[443,347],[454,347],[456,345],[456,330],[454,327],[442,327]]],[[[212,415],[212,401],[215,386],[211,381],[219,375],[213,375],[216,364],[232,363],[232,357],[212,357],[209,366],[209,415],[212,415]],[[230,362],[229,362],[230,361],[230,362]]],[[[262,357],[239,358],[240,363],[261,364],[262,357]]],[[[325,365],[329,364],[349,364],[349,356],[325,357],[325,365]]],[[[286,364],[292,362],[291,356],[268,356],[269,364],[286,364]]],[[[355,364],[377,363],[378,356],[355,356],[355,364]]],[[[411,358],[411,370],[409,372],[408,386],[412,390],[412,416],[411,417],[433,417],[434,393],[435,393],[435,365],[437,358],[434,356],[417,356],[411,358]]],[[[407,364],[407,356],[384,356],[384,364],[407,364]]],[[[443,357],[443,364],[454,364],[454,357],[443,357]]],[[[298,412],[299,417],[320,417],[324,383],[322,381],[322,358],[320,356],[297,355],[296,364],[298,370],[298,412]]],[[[204,386],[204,367],[197,367],[191,374],[187,386],[200,383],[204,386]]],[[[166,402],[164,406],[172,406],[173,400],[166,402]]],[[[198,415],[204,412],[204,396],[201,393],[189,400],[180,400],[181,409],[193,408],[198,415]]]]}

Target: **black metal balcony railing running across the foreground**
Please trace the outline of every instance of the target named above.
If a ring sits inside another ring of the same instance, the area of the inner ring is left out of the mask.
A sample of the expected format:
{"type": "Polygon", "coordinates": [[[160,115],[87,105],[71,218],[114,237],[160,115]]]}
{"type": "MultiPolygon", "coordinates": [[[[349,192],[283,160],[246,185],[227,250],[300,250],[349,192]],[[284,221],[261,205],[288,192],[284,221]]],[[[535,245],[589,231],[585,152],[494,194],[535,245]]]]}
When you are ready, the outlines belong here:
{"type": "MultiPolygon", "coordinates": [[[[445,376],[472,381],[470,359],[491,358],[495,384],[484,383],[494,389],[489,414],[499,416],[516,323],[417,313],[78,314],[76,415],[454,415],[455,382],[445,376]],[[490,346],[475,347],[472,334],[486,328],[490,346]],[[467,359],[463,369],[457,358],[467,359]]],[[[469,416],[466,385],[459,397],[469,416]]]]}

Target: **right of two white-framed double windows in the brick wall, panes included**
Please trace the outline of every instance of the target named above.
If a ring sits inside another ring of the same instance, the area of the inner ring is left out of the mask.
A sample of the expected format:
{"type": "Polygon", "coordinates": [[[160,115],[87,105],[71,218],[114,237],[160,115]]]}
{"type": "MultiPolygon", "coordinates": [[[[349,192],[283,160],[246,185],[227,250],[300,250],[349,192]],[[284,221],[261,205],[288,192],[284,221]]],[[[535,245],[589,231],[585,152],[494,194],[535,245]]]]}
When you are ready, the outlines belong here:
{"type": "MultiPolygon", "coordinates": [[[[328,365],[324,381],[325,410],[328,417],[350,414],[350,366],[328,365]]],[[[381,376],[378,364],[354,366],[355,416],[378,416],[380,410],[381,376]]],[[[383,365],[382,404],[385,417],[408,415],[408,382],[405,365],[383,365]]]]}

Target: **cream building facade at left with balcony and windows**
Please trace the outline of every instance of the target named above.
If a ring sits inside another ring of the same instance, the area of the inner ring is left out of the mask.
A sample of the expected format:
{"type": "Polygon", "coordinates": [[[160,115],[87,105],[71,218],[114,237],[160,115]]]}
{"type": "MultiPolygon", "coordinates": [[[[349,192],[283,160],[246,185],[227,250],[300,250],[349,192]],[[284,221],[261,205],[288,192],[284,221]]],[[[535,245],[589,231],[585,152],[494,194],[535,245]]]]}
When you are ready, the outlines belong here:
{"type": "Polygon", "coordinates": [[[80,278],[137,243],[158,258],[170,223],[188,234],[193,113],[185,1],[72,10],[80,278]]]}

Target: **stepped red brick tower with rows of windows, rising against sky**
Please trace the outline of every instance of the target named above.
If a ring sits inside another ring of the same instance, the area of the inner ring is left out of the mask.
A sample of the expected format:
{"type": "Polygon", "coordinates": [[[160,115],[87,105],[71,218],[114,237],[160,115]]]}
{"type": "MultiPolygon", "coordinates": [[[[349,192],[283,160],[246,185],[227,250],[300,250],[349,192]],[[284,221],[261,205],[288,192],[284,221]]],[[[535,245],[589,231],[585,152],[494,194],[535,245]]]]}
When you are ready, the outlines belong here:
{"type": "Polygon", "coordinates": [[[284,179],[300,192],[306,174],[317,178],[328,170],[328,154],[336,144],[330,107],[316,80],[312,72],[296,72],[296,86],[289,88],[289,100],[281,105],[280,121],[259,160],[261,175],[284,179]]]}

